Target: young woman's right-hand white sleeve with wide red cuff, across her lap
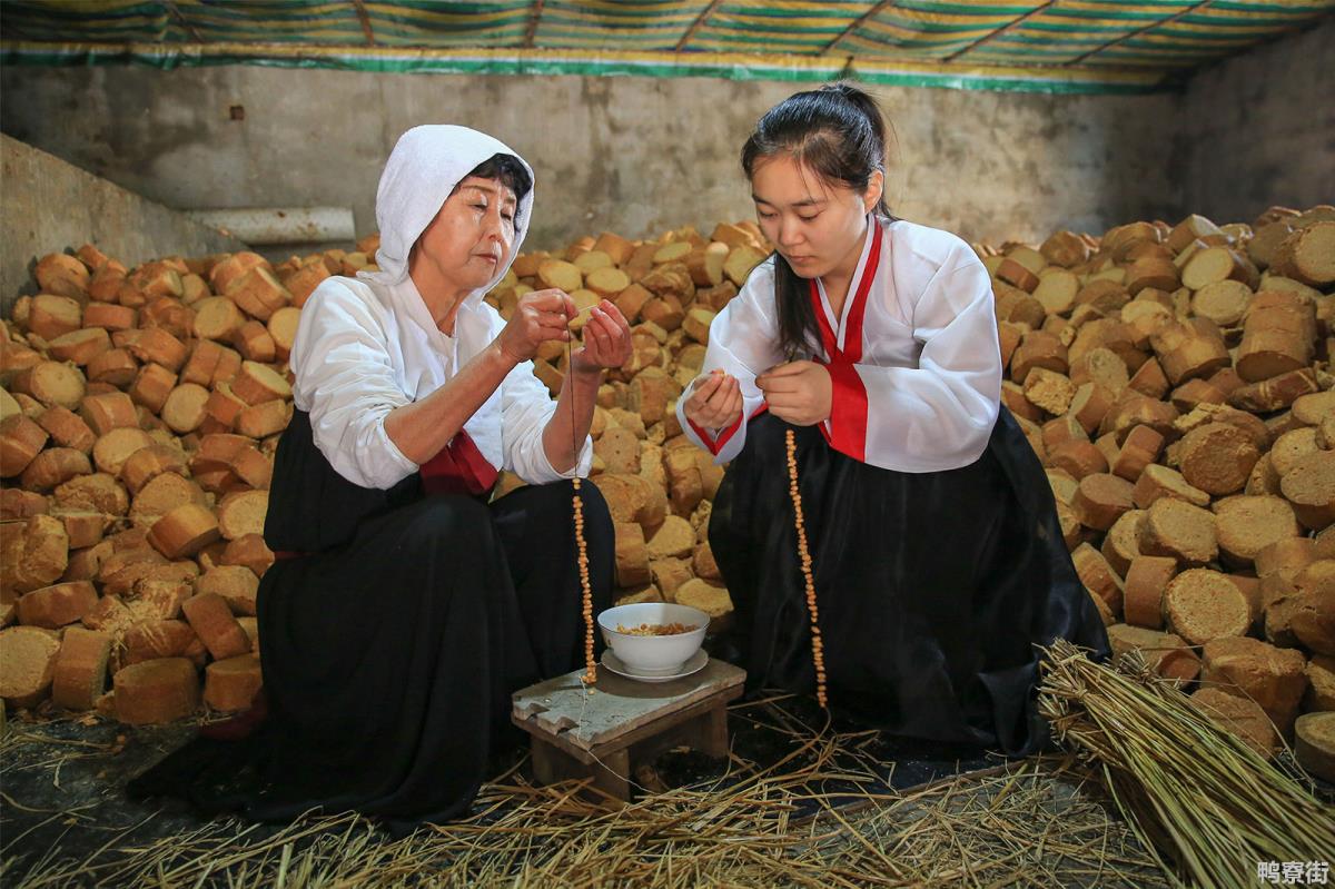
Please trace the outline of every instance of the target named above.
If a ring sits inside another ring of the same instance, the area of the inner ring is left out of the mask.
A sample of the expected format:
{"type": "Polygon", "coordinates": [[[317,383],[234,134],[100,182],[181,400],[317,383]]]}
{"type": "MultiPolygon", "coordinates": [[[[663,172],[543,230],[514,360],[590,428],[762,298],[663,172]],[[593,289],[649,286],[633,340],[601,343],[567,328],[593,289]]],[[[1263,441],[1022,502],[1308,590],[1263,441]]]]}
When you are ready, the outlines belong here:
{"type": "Polygon", "coordinates": [[[988,272],[961,247],[914,302],[917,367],[830,367],[828,430],[837,450],[905,473],[967,466],[983,455],[1000,412],[1001,347],[988,272]]]}

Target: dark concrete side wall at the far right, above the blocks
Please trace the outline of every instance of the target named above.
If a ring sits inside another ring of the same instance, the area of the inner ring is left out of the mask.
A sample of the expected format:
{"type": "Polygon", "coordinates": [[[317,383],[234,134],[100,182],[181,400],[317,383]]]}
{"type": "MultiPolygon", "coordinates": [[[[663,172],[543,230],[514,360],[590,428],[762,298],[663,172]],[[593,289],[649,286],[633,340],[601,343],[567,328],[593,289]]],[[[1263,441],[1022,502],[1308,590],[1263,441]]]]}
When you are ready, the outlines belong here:
{"type": "Polygon", "coordinates": [[[1196,73],[1181,99],[1183,202],[1251,220],[1335,203],[1335,16],[1196,73]]]}

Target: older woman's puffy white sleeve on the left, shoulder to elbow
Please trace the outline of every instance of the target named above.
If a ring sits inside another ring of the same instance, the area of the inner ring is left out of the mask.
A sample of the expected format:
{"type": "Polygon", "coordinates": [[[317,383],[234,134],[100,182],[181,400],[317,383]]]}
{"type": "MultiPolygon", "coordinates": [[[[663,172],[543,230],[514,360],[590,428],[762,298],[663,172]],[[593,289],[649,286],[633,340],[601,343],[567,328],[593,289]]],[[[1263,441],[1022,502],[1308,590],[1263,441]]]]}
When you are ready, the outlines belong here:
{"type": "Polygon", "coordinates": [[[374,308],[347,284],[322,283],[302,308],[288,366],[294,402],[311,418],[315,447],[362,487],[390,489],[418,471],[384,431],[409,403],[374,308]]]}

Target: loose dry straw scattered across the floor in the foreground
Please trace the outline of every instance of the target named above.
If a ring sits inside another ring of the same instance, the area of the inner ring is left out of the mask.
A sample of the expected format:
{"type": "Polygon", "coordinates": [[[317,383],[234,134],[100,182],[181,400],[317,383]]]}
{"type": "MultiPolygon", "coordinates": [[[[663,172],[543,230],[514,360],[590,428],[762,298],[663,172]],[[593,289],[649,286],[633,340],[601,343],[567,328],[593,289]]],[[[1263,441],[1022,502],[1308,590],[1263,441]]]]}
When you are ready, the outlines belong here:
{"type": "MultiPolygon", "coordinates": [[[[734,756],[689,786],[610,809],[578,785],[534,788],[522,761],[473,817],[390,840],[368,821],[276,830],[214,821],[151,841],[142,825],[84,860],[11,860],[0,882],[89,886],[1160,886],[1155,861],[1083,792],[1071,757],[1003,764],[908,792],[886,784],[876,733],[804,722],[789,698],[734,725],[786,756],[734,756]]],[[[682,756],[682,754],[674,754],[682,756]]],[[[689,757],[689,754],[686,754],[689,757]]],[[[12,852],[12,850],[11,850],[12,852]]]]}

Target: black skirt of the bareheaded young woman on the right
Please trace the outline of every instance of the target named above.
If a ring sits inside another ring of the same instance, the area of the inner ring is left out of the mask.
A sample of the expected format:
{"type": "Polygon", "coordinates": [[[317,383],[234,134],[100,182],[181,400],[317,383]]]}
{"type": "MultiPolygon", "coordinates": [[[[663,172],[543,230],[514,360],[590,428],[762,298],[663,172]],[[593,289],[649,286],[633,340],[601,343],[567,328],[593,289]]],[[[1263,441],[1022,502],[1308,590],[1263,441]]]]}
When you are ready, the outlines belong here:
{"type": "Polygon", "coordinates": [[[1045,746],[1035,646],[1065,638],[1101,659],[1108,638],[1004,406],[983,457],[940,473],[861,463],[769,414],[750,422],[709,523],[748,685],[816,687],[789,428],[832,709],[898,735],[1015,756],[1045,746]]]}

